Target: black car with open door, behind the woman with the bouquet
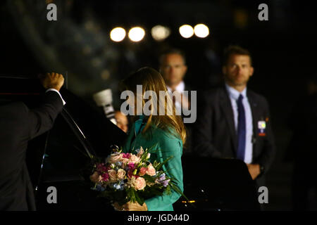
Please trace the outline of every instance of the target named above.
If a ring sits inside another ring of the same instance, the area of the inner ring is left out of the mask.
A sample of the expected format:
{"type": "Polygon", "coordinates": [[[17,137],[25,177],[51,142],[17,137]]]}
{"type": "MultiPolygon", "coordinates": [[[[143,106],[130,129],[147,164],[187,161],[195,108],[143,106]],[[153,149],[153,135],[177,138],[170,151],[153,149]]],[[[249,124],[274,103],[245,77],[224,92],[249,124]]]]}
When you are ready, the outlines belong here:
{"type": "MultiPolygon", "coordinates": [[[[32,77],[0,75],[0,102],[23,101],[35,107],[44,93],[32,77]]],[[[61,89],[66,105],[45,134],[30,141],[27,167],[37,210],[113,210],[90,189],[91,156],[106,157],[110,146],[123,146],[126,134],[93,103],[61,89]],[[57,203],[49,203],[49,187],[57,203]]],[[[240,160],[182,157],[184,193],[175,210],[259,210],[256,185],[240,160]],[[235,171],[235,173],[232,173],[235,171]]]]}

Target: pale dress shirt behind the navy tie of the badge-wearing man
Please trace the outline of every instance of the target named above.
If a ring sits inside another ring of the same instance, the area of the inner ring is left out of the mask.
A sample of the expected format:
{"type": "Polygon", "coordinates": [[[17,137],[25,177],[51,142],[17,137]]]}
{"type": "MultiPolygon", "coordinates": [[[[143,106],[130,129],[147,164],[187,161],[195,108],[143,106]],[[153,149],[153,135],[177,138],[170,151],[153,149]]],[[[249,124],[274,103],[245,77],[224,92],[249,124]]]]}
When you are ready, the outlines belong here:
{"type": "Polygon", "coordinates": [[[231,106],[233,110],[233,117],[235,119],[235,131],[237,132],[237,124],[238,124],[238,110],[237,110],[237,99],[239,98],[240,94],[242,94],[242,104],[244,106],[245,112],[245,121],[246,121],[246,141],[245,141],[245,154],[244,154],[244,162],[251,163],[252,162],[252,150],[253,150],[253,143],[252,143],[252,135],[253,135],[253,123],[252,123],[252,113],[250,104],[247,98],[247,87],[240,93],[236,89],[232,88],[228,84],[225,84],[225,87],[228,91],[228,95],[230,97],[231,106]]]}

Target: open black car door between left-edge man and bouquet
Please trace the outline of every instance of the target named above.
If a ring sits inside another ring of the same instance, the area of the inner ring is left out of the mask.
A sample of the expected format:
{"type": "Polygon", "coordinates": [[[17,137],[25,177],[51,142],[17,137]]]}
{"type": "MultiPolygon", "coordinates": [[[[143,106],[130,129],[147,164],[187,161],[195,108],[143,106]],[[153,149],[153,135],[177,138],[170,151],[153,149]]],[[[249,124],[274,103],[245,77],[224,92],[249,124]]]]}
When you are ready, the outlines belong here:
{"type": "Polygon", "coordinates": [[[106,199],[90,190],[92,156],[105,157],[110,146],[122,146],[126,134],[94,108],[68,90],[66,101],[49,131],[35,187],[38,210],[113,210],[106,199]],[[53,193],[56,193],[54,197],[53,193]]]}

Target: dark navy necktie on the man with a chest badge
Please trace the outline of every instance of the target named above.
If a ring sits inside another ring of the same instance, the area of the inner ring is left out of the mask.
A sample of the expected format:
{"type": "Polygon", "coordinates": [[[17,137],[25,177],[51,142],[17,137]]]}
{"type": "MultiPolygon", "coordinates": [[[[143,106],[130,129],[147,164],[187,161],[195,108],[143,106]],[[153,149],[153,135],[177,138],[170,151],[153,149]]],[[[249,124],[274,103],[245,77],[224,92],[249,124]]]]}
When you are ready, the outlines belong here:
{"type": "Polygon", "coordinates": [[[245,124],[245,113],[244,106],[242,104],[243,96],[240,94],[237,100],[238,108],[238,126],[237,126],[237,138],[238,138],[238,147],[237,147],[237,159],[244,160],[245,153],[245,136],[246,136],[246,124],[245,124]]]}

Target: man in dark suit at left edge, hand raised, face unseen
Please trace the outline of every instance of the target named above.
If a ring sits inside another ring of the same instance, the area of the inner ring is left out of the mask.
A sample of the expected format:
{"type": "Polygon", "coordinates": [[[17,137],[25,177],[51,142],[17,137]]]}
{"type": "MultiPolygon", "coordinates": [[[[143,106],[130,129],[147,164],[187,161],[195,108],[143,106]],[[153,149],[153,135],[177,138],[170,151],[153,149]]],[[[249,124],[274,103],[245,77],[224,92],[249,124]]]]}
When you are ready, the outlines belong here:
{"type": "Polygon", "coordinates": [[[0,210],[35,210],[35,199],[25,153],[27,142],[51,129],[63,109],[59,94],[63,76],[47,74],[42,78],[46,88],[44,102],[29,109],[22,102],[0,106],[0,210]]]}

